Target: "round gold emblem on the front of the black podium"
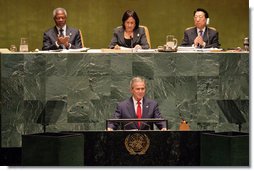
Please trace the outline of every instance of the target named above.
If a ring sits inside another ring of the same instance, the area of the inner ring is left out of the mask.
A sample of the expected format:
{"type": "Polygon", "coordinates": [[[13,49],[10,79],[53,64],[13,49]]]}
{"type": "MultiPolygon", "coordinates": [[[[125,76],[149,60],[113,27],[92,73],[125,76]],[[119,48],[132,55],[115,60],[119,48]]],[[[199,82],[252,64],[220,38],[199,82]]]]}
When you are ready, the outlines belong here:
{"type": "Polygon", "coordinates": [[[131,155],[143,155],[150,146],[150,140],[146,134],[134,133],[125,138],[125,147],[131,155]]]}

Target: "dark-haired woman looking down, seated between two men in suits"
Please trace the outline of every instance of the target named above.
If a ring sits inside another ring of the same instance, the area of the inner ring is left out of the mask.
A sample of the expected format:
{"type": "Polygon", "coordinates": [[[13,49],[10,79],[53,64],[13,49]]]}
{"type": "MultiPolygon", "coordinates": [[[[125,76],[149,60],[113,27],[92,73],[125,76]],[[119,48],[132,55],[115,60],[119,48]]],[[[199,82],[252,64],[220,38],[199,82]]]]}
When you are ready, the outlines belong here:
{"type": "Polygon", "coordinates": [[[122,17],[122,26],[114,29],[109,48],[120,47],[149,49],[145,29],[139,27],[139,18],[135,11],[127,10],[122,17]]]}

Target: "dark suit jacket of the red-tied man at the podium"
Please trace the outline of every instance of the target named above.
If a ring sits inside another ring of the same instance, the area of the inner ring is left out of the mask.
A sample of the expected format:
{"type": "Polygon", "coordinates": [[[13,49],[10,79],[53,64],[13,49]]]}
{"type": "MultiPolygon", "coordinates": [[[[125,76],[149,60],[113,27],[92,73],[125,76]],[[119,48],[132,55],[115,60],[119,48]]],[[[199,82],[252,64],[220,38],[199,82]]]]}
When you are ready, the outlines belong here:
{"type": "MultiPolygon", "coordinates": [[[[161,113],[159,111],[158,103],[154,100],[150,100],[148,98],[143,98],[143,106],[142,106],[142,118],[162,118],[161,113]]],[[[132,97],[118,103],[115,113],[113,114],[114,119],[135,119],[137,118],[133,99],[132,97]]],[[[138,129],[138,123],[124,123],[122,129],[138,129]]],[[[161,129],[166,128],[165,122],[156,122],[155,125],[161,129]]],[[[109,128],[117,129],[119,127],[118,123],[109,123],[109,128]]],[[[141,123],[140,129],[152,129],[153,123],[147,122],[147,123],[141,123]]]]}

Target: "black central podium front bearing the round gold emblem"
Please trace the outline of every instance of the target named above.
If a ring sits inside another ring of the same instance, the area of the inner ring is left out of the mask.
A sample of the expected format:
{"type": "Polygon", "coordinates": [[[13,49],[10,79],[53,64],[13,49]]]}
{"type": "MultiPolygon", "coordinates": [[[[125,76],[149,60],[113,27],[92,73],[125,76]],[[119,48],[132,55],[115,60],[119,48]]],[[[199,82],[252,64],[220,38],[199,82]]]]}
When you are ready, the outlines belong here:
{"type": "Polygon", "coordinates": [[[84,136],[85,166],[200,165],[201,131],[119,130],[72,133],[82,133],[84,136]]]}

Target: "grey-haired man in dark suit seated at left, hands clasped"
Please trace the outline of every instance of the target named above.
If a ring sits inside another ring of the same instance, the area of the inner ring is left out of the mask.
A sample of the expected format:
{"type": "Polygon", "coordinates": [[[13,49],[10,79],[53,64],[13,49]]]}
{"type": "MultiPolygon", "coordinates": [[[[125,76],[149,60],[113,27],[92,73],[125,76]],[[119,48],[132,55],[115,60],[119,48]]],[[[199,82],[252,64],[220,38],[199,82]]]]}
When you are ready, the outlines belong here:
{"type": "Polygon", "coordinates": [[[79,30],[66,25],[66,10],[54,9],[53,18],[56,25],[44,33],[42,50],[82,48],[79,30]]]}

